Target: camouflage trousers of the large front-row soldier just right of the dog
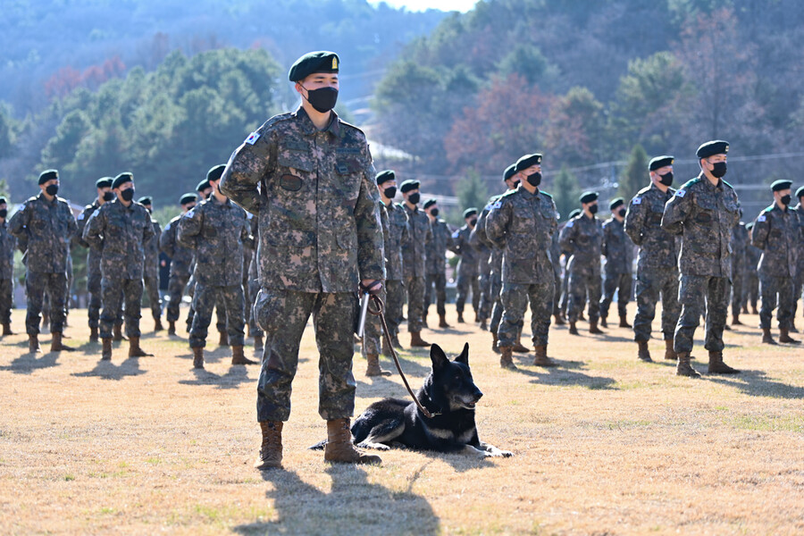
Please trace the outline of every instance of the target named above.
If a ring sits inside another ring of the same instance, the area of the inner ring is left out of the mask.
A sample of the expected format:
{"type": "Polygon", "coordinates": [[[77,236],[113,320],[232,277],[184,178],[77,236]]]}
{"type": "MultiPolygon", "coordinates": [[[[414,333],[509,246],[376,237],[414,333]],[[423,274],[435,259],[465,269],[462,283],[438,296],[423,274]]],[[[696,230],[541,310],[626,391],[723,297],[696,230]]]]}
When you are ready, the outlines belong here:
{"type": "Polygon", "coordinates": [[[553,287],[555,281],[531,283],[503,283],[500,299],[504,307],[502,321],[497,331],[498,347],[513,347],[519,339],[524,314],[531,304],[531,332],[535,346],[547,346],[550,330],[550,314],[553,310],[553,287]]]}

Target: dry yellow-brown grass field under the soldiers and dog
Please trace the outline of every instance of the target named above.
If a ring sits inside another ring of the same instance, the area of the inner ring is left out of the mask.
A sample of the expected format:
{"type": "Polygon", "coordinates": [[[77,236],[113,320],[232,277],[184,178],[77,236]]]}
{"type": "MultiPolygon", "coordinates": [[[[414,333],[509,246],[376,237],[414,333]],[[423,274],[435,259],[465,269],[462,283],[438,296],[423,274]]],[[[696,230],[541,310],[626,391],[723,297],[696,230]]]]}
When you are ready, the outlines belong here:
{"type": "MultiPolygon", "coordinates": [[[[18,333],[23,316],[14,312],[18,333]]],[[[228,348],[212,344],[197,373],[184,339],[152,333],[142,346],[156,356],[127,359],[115,344],[101,363],[86,311],[70,320],[78,352],[31,356],[24,334],[0,340],[3,534],[804,533],[804,349],[761,346],[754,315],[725,335],[726,363],[744,372],[699,381],[674,375],[661,340],[650,344],[656,363],[637,361],[626,329],[554,328],[560,368],[520,356],[518,372],[498,367],[475,324],[423,331],[451,356],[469,341],[481,438],[515,456],[392,450],[370,467],[306,449],[326,437],[310,328],[285,469],[262,474],[251,466],[257,367],[230,366],[228,348]]],[[[697,335],[693,364],[705,372],[697,335]]],[[[402,362],[417,389],[428,352],[402,362]]],[[[359,354],[355,371],[358,412],[406,396],[396,375],[366,379],[359,354]]]]}

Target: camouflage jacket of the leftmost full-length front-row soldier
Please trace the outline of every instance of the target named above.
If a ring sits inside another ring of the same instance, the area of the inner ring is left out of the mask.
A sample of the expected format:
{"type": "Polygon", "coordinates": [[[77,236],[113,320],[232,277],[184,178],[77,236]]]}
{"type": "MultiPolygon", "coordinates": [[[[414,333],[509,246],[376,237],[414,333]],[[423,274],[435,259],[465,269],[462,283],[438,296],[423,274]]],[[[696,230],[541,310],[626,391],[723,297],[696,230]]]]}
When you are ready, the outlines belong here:
{"type": "Polygon", "coordinates": [[[8,222],[14,237],[27,243],[26,263],[31,272],[67,273],[70,240],[77,229],[70,205],[61,197],[30,197],[8,222]]]}

